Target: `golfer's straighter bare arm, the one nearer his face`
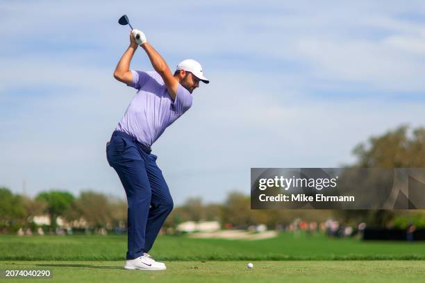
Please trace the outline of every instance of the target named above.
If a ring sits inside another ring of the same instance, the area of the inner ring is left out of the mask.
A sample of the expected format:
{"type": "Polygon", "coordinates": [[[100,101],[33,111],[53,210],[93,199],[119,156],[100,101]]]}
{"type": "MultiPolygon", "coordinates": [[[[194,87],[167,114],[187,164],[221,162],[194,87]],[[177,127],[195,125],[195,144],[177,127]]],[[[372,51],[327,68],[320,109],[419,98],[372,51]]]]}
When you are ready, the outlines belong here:
{"type": "Polygon", "coordinates": [[[141,46],[149,56],[149,60],[151,60],[153,69],[155,69],[155,71],[163,78],[168,93],[174,101],[174,99],[176,99],[178,81],[176,78],[174,78],[172,72],[169,70],[167,62],[165,62],[161,55],[155,49],[153,49],[149,42],[146,42],[141,46]]]}

